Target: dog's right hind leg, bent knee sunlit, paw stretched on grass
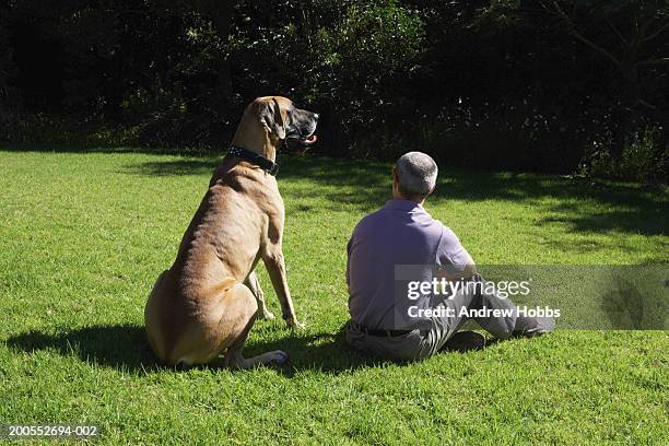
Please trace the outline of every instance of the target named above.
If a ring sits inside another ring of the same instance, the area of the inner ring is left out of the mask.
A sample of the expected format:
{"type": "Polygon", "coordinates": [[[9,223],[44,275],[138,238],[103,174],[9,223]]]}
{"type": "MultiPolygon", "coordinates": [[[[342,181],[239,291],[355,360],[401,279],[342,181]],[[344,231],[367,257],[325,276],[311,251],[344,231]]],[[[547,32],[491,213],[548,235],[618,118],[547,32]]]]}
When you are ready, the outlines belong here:
{"type": "MultiPolygon", "coordinates": [[[[258,314],[258,304],[250,289],[239,284],[230,290],[226,302],[226,315],[234,320],[221,320],[222,324],[232,322],[231,337],[234,341],[227,348],[224,365],[230,368],[253,368],[259,365],[283,364],[287,361],[287,354],[281,350],[262,353],[253,357],[244,357],[242,349],[248,337],[258,314]]],[[[225,317],[224,317],[225,318],[225,317]]]]}

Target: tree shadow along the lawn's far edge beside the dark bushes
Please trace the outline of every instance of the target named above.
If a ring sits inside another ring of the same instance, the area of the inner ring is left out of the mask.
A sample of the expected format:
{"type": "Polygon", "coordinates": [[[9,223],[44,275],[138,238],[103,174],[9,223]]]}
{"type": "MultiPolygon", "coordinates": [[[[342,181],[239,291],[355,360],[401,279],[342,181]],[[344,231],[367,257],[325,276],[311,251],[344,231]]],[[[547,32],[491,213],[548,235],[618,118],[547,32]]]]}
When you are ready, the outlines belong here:
{"type": "MultiPolygon", "coordinates": [[[[146,176],[209,175],[220,157],[159,160],[127,166],[127,173],[146,176]]],[[[280,156],[279,183],[297,210],[313,199],[315,189],[301,179],[317,183],[327,209],[355,208],[371,212],[390,196],[390,163],[356,162],[320,156],[280,156]]],[[[595,234],[620,232],[669,235],[669,193],[661,186],[590,181],[535,174],[442,169],[430,201],[498,200],[526,202],[547,214],[538,226],[567,225],[595,234]]],[[[287,202],[290,207],[291,203],[287,202]]]]}

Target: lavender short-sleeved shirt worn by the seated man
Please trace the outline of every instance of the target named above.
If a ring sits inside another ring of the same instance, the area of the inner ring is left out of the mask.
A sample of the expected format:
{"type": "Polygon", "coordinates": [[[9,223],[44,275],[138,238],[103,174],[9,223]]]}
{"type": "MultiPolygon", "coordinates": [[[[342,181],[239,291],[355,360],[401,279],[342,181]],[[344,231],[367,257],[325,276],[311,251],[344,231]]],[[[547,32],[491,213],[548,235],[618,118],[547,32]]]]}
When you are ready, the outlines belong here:
{"type": "MultiPolygon", "coordinates": [[[[396,265],[438,265],[457,274],[473,263],[455,233],[410,200],[388,200],[362,219],[347,250],[349,313],[371,330],[406,328],[396,319],[396,265]]],[[[425,274],[430,280],[432,270],[425,274]]]]}

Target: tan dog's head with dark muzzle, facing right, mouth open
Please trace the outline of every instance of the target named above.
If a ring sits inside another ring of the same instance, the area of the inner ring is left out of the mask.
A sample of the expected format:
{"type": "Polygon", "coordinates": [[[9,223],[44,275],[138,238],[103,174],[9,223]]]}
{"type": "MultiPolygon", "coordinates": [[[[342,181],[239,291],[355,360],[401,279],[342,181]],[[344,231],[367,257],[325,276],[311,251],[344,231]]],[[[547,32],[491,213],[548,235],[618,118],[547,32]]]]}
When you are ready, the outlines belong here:
{"type": "Polygon", "coordinates": [[[270,138],[293,139],[304,145],[318,139],[314,133],[318,114],[295,107],[287,97],[258,97],[251,105],[270,138]]]}

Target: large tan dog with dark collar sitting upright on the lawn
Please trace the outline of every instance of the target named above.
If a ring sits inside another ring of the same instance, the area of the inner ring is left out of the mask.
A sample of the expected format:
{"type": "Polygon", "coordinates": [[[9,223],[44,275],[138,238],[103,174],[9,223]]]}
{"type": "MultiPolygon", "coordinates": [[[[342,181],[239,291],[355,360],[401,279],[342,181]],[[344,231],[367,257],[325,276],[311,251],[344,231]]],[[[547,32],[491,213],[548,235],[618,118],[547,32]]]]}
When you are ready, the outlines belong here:
{"type": "Polygon", "coordinates": [[[315,142],[317,120],[318,115],[280,96],[259,97],[246,107],[231,148],[235,155],[228,153],[215,169],[174,265],[157,278],[149,295],[146,333],[162,361],[203,364],[225,352],[223,365],[248,368],[287,360],[280,350],[244,359],[242,348],[257,313],[273,317],[254,273],[259,259],[269,271],[286,324],[303,327],[285,277],[283,200],[267,171],[281,140],[315,142]]]}

